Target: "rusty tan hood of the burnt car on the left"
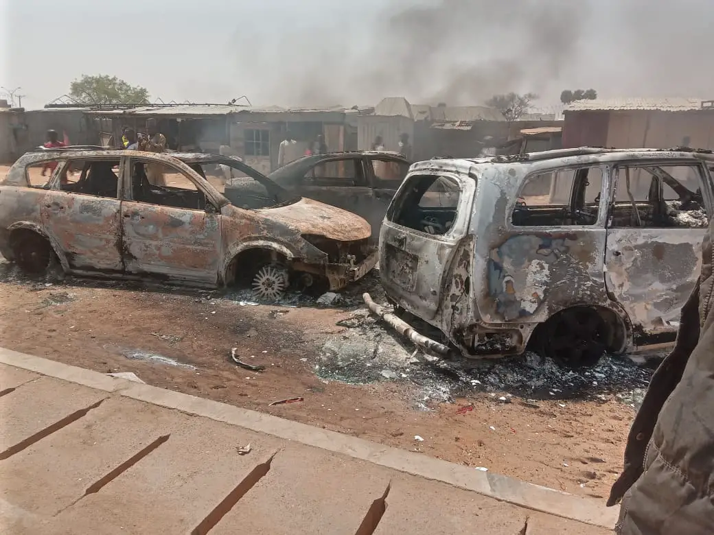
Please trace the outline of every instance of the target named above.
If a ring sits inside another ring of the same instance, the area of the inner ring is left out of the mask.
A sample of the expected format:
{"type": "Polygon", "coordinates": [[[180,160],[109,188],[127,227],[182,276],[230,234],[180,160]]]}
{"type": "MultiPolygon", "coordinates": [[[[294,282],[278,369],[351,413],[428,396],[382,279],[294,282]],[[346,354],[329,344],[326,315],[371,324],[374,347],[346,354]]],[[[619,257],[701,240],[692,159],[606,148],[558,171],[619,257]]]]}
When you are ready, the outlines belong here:
{"type": "Polygon", "coordinates": [[[306,198],[291,205],[263,208],[253,213],[296,228],[301,234],[316,234],[331,240],[366,240],[372,233],[369,223],[359,215],[306,198]]]}

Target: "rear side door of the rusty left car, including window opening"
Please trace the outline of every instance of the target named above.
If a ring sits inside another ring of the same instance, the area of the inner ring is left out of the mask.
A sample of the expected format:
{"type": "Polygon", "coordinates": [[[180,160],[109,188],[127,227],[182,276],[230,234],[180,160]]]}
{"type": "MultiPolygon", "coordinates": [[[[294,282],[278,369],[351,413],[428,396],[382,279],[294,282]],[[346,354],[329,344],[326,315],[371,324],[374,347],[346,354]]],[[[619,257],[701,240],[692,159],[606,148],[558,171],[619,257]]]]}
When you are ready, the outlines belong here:
{"type": "Polygon", "coordinates": [[[116,156],[74,158],[62,164],[52,180],[41,206],[42,224],[73,270],[124,270],[120,173],[116,156]]]}

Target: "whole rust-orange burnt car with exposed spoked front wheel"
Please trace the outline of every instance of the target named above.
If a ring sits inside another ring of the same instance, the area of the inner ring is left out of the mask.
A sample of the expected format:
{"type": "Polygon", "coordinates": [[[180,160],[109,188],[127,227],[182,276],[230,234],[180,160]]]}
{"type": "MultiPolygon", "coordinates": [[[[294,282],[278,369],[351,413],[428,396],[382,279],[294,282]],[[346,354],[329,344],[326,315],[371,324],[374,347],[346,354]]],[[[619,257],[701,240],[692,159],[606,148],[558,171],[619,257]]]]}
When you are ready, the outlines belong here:
{"type": "Polygon", "coordinates": [[[357,215],[211,154],[38,149],[0,183],[0,253],[26,272],[56,262],[76,275],[244,283],[276,299],[291,282],[336,290],[363,277],[376,264],[369,236],[357,215]],[[204,172],[217,166],[250,186],[233,203],[204,172]]]}

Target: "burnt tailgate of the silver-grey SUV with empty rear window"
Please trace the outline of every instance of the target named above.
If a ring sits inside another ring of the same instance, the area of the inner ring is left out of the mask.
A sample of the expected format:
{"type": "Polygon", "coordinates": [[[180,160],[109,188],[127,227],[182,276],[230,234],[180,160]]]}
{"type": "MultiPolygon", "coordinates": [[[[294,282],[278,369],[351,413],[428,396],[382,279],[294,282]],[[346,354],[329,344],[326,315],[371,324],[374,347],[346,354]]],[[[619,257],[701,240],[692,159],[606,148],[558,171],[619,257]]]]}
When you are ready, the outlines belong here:
{"type": "Polygon", "coordinates": [[[380,270],[388,294],[418,317],[436,316],[444,279],[468,231],[476,180],[448,171],[411,175],[380,233],[380,270]]]}

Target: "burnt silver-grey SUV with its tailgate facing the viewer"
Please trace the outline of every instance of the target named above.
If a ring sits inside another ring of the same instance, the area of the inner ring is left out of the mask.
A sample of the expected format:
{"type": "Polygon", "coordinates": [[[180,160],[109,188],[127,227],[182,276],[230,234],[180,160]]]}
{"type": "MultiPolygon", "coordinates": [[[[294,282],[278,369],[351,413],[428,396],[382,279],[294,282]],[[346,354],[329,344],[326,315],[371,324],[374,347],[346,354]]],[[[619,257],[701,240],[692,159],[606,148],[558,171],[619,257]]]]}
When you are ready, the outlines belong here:
{"type": "Polygon", "coordinates": [[[569,367],[673,342],[713,163],[710,151],[601,148],[415,163],[380,234],[391,322],[436,352],[530,345],[569,367]],[[418,320],[437,335],[417,337],[418,320]]]}

